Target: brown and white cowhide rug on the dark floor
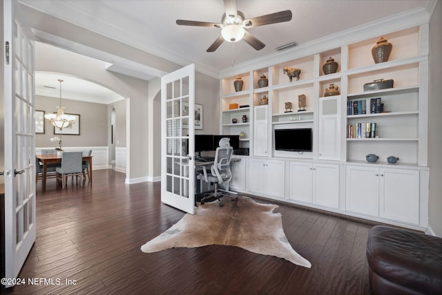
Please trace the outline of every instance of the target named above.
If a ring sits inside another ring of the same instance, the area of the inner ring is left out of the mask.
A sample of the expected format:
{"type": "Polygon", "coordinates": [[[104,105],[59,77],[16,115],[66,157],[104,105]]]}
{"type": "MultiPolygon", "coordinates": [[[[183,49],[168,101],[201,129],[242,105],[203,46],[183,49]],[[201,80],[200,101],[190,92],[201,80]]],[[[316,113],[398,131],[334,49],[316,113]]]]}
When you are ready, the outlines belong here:
{"type": "Polygon", "coordinates": [[[224,207],[218,201],[199,205],[194,215],[186,214],[170,229],[142,245],[142,251],[230,245],[311,267],[285,237],[281,214],[273,213],[277,205],[259,204],[247,197],[238,197],[236,202],[224,199],[223,203],[224,207]]]}

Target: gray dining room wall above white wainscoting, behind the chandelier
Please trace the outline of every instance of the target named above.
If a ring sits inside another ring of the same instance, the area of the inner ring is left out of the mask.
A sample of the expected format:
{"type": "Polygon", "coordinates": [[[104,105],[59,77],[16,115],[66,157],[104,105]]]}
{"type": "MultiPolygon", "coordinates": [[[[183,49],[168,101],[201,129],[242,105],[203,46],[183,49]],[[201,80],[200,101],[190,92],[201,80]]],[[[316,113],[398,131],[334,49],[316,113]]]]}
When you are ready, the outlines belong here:
{"type": "MultiPolygon", "coordinates": [[[[46,114],[57,111],[59,99],[55,97],[45,97],[37,95],[35,97],[35,109],[45,111],[46,114]]],[[[65,112],[80,115],[79,124],[80,135],[63,135],[62,146],[108,146],[108,116],[105,104],[93,104],[90,102],[78,102],[70,99],[63,99],[65,112]]],[[[35,135],[35,146],[58,147],[55,142],[50,142],[50,138],[60,135],[54,134],[54,127],[45,120],[45,133],[35,135]]]]}

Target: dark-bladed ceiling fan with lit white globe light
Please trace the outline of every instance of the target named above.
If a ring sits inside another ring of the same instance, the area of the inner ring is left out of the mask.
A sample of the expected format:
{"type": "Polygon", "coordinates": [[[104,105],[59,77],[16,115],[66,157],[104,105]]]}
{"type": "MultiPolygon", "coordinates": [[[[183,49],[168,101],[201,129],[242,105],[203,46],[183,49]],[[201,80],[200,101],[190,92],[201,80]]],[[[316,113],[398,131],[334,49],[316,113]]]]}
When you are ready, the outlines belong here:
{"type": "Polygon", "coordinates": [[[256,50],[261,50],[265,47],[258,38],[247,32],[247,28],[253,28],[257,26],[265,26],[271,23],[282,23],[284,21],[291,20],[291,11],[284,10],[280,12],[271,13],[269,15],[262,15],[260,17],[253,17],[246,19],[244,14],[238,11],[236,6],[236,0],[224,0],[224,8],[226,12],[222,15],[221,23],[208,23],[205,21],[185,21],[183,19],[177,19],[176,23],[180,26],[200,26],[209,28],[222,28],[221,36],[213,42],[213,44],[207,48],[208,53],[213,53],[224,40],[229,42],[238,42],[241,39],[247,42],[250,46],[256,50]]]}

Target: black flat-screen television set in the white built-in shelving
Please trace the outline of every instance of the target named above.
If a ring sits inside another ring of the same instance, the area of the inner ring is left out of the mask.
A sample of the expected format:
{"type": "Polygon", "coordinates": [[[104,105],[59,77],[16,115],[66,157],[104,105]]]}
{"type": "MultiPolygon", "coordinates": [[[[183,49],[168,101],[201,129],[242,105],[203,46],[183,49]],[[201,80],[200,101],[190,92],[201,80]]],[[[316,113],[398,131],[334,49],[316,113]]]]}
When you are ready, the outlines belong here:
{"type": "Polygon", "coordinates": [[[276,151],[312,151],[311,128],[275,129],[276,151]]]}

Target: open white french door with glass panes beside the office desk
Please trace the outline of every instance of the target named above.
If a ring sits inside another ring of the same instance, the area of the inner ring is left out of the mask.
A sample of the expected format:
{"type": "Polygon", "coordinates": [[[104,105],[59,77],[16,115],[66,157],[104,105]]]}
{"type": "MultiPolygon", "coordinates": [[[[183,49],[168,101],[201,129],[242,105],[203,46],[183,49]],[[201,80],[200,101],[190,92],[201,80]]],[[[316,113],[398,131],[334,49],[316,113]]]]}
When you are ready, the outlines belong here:
{"type": "Polygon", "coordinates": [[[195,65],[161,79],[161,200],[193,214],[195,209],[195,65]]]}

